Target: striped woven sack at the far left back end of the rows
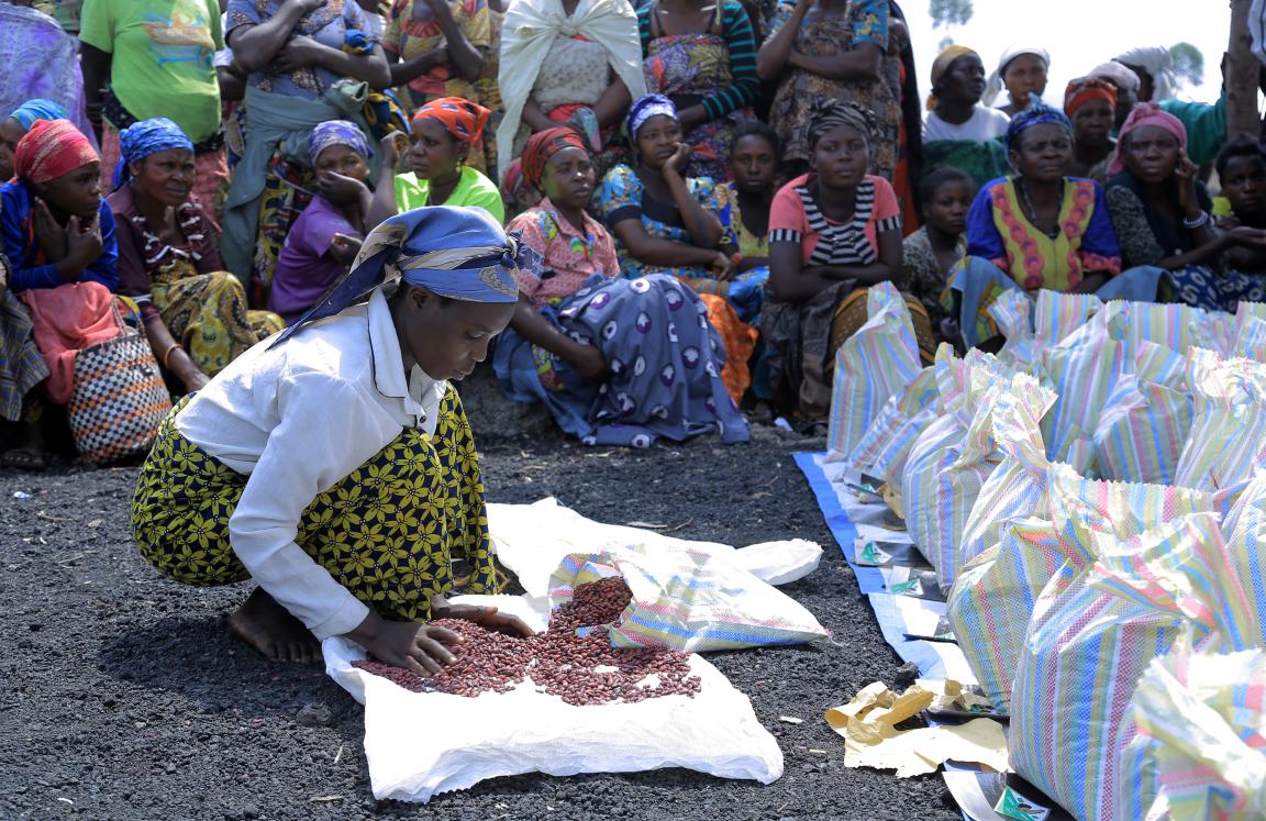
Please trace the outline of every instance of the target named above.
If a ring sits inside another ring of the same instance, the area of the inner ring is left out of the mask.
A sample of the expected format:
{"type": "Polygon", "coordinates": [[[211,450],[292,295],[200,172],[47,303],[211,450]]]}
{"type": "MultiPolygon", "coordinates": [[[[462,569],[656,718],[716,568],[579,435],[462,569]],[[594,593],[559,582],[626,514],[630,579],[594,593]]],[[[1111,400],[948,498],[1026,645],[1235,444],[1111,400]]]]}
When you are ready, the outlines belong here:
{"type": "Polygon", "coordinates": [[[919,345],[905,298],[891,285],[867,289],[866,324],[836,351],[827,450],[848,456],[890,397],[919,375],[919,345]]]}

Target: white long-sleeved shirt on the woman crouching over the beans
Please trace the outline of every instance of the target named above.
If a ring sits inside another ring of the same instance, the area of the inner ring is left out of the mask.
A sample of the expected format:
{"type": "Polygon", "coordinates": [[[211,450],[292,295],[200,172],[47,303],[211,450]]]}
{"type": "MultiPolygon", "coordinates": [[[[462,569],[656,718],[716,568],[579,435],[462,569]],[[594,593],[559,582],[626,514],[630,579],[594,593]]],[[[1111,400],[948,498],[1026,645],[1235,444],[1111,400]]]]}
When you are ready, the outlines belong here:
{"type": "Polygon", "coordinates": [[[247,475],[229,541],[267,593],[318,639],[353,630],[368,608],[295,544],[318,494],[368,461],[405,427],[436,432],[447,381],[414,367],[381,290],[367,304],[256,345],[200,390],[176,428],[247,475]]]}

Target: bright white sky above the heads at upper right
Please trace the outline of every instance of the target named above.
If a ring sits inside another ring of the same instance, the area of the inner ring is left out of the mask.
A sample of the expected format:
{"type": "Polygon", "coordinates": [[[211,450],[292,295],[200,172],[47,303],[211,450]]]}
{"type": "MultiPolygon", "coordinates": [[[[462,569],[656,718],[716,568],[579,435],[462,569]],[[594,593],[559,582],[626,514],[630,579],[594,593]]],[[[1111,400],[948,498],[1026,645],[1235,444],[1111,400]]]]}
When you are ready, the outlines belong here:
{"type": "MultiPolygon", "coordinates": [[[[1188,42],[1204,52],[1204,85],[1186,86],[1179,96],[1212,103],[1222,84],[1219,63],[1231,34],[1228,0],[974,0],[966,25],[932,28],[928,0],[898,0],[910,27],[919,92],[927,94],[928,72],[944,37],[980,52],[985,71],[1014,42],[1051,52],[1047,101],[1062,105],[1069,80],[1120,52],[1138,46],[1188,42]]],[[[995,105],[1005,103],[1000,99],[995,105]]]]}

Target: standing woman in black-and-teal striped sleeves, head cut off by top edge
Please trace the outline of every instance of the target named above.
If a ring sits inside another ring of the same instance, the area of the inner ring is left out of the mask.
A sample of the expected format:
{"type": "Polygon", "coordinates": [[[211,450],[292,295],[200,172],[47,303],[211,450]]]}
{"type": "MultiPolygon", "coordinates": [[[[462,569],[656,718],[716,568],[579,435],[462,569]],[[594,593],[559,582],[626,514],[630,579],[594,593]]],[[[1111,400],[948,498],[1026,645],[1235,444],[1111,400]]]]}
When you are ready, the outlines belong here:
{"type": "Polygon", "coordinates": [[[651,0],[638,9],[646,90],[677,106],[690,157],[682,172],[728,179],[734,129],[756,119],[752,20],[736,0],[651,0]]]}

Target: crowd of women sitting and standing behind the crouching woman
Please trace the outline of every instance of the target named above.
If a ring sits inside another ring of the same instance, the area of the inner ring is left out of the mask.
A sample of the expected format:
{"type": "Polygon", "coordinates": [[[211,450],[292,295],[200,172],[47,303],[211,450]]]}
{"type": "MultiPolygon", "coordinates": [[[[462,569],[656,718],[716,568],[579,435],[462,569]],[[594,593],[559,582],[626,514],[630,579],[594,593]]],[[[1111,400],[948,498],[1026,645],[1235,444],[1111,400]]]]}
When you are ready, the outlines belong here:
{"type": "Polygon", "coordinates": [[[998,346],[1006,290],[1263,299],[1266,157],[1228,138],[1224,100],[1175,99],[1163,48],[1061,95],[1036,44],[993,72],[948,46],[919,75],[886,0],[44,0],[0,19],[5,466],[44,465],[75,351],[115,312],[173,397],[204,390],[425,207],[481,209],[534,253],[489,356],[509,398],[589,443],[814,430],[884,281],[928,361],[998,346]]]}

